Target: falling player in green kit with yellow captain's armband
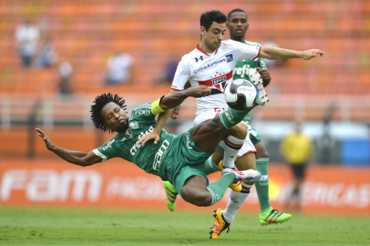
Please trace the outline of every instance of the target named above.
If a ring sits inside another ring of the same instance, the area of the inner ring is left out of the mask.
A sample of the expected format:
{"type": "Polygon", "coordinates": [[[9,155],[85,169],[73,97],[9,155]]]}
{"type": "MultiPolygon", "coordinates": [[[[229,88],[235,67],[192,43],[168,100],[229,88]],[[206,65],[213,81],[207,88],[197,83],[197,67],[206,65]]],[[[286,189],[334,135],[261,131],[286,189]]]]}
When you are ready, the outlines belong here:
{"type": "MultiPolygon", "coordinates": [[[[196,206],[211,206],[223,198],[230,183],[261,178],[259,171],[253,169],[224,169],[221,179],[209,183],[204,174],[206,159],[214,153],[218,142],[229,135],[229,129],[242,122],[249,110],[228,109],[178,136],[162,129],[156,143],[138,141],[140,137],[154,131],[156,115],[180,105],[189,96],[198,98],[209,93],[211,91],[206,86],[194,86],[134,108],[130,116],[125,113],[123,98],[111,93],[101,94],[95,98],[91,107],[92,122],[97,129],[117,134],[88,153],[60,148],[51,142],[44,131],[38,128],[36,131],[47,149],[67,162],[87,167],[121,157],[145,172],[173,183],[185,201],[196,206]]],[[[247,136],[247,124],[244,130],[247,136]]]]}

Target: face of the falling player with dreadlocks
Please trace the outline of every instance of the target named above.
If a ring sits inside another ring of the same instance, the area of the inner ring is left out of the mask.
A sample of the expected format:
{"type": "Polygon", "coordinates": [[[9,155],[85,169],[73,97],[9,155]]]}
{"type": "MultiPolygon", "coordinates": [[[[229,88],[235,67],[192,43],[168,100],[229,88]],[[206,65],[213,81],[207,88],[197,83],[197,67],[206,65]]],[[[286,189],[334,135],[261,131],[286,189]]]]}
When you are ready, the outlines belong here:
{"type": "Polygon", "coordinates": [[[101,116],[104,118],[105,126],[118,134],[128,129],[128,117],[116,103],[106,103],[101,109],[101,116]]]}

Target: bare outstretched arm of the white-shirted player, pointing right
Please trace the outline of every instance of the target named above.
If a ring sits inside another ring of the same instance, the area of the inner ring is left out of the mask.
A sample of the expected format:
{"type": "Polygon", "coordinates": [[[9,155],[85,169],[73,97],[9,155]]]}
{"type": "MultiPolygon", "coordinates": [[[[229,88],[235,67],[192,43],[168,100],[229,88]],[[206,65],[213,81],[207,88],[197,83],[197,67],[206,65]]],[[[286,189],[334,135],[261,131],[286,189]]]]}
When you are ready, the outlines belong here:
{"type": "Polygon", "coordinates": [[[323,56],[325,53],[317,48],[312,48],[307,51],[293,51],[286,48],[262,47],[261,53],[259,53],[259,57],[269,60],[286,58],[303,58],[304,60],[309,60],[316,57],[318,54],[320,56],[323,56]]]}

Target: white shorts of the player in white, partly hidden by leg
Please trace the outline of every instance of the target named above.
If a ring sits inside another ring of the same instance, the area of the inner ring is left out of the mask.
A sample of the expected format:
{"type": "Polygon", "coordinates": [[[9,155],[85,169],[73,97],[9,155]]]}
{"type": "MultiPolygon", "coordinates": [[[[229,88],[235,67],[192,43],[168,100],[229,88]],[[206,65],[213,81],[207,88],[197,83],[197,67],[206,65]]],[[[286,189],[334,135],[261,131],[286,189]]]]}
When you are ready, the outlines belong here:
{"type": "MultiPolygon", "coordinates": [[[[208,112],[203,112],[201,115],[197,115],[197,117],[195,117],[194,119],[193,126],[194,127],[197,126],[197,124],[199,124],[200,122],[204,122],[204,120],[206,119],[213,119],[216,115],[219,115],[224,110],[227,110],[227,108],[215,108],[215,109],[209,110],[208,112]]],[[[220,141],[218,145],[221,148],[224,148],[223,141],[220,141]]],[[[247,138],[245,138],[242,148],[239,150],[238,157],[247,155],[248,153],[257,153],[256,148],[254,148],[254,145],[249,138],[249,134],[247,134],[247,138]]]]}

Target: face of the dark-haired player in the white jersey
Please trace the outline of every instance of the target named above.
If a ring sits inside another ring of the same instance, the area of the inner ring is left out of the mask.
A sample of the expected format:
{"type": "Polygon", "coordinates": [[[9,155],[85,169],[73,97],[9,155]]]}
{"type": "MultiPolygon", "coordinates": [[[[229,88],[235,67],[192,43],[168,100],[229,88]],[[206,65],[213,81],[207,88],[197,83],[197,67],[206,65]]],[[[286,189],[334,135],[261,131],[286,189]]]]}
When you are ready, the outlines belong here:
{"type": "Polygon", "coordinates": [[[213,22],[209,30],[206,31],[203,27],[201,33],[204,39],[204,45],[208,49],[206,52],[214,52],[217,48],[220,48],[221,41],[226,32],[226,23],[213,22]]]}

